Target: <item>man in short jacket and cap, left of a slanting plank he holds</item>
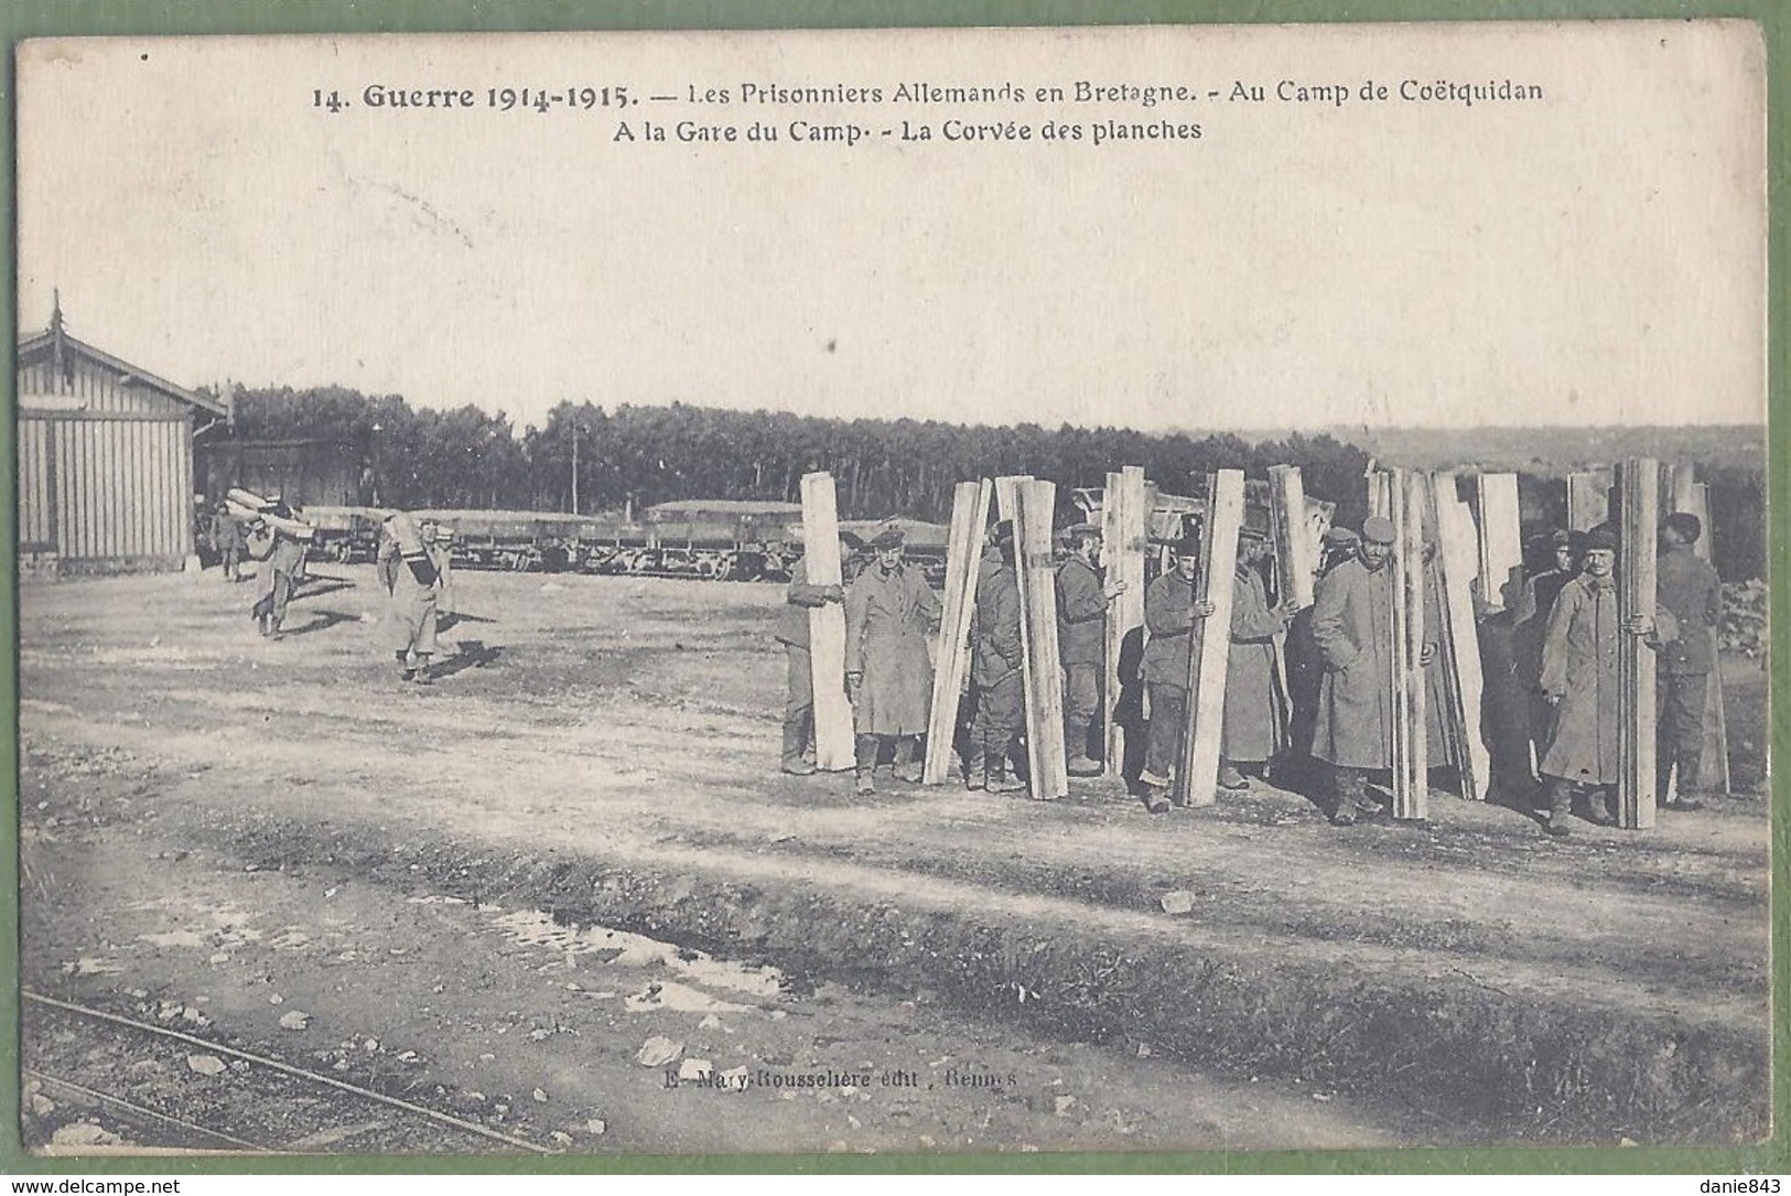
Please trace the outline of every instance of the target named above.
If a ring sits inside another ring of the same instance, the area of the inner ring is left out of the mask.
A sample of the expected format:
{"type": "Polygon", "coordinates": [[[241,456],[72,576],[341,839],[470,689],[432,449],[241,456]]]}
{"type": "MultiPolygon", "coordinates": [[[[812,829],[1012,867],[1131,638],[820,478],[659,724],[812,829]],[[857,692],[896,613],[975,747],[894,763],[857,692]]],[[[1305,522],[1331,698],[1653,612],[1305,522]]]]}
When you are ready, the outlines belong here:
{"type": "Polygon", "coordinates": [[[1170,548],[1175,551],[1175,568],[1144,589],[1144,630],[1150,637],[1139,666],[1150,696],[1150,732],[1144,741],[1144,770],[1137,779],[1144,790],[1144,809],[1153,815],[1170,809],[1166,790],[1182,765],[1193,632],[1214,611],[1196,589],[1200,537],[1184,534],[1170,548]]]}

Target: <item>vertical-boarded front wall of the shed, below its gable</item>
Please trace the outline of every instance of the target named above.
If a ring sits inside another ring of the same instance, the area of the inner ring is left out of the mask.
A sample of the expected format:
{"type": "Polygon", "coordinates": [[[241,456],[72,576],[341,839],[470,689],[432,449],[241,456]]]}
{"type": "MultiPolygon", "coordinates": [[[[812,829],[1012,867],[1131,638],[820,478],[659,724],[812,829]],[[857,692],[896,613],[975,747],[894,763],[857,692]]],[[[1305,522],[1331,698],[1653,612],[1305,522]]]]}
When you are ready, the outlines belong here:
{"type": "Polygon", "coordinates": [[[70,562],[190,551],[192,431],[184,419],[18,419],[20,546],[70,562]]]}

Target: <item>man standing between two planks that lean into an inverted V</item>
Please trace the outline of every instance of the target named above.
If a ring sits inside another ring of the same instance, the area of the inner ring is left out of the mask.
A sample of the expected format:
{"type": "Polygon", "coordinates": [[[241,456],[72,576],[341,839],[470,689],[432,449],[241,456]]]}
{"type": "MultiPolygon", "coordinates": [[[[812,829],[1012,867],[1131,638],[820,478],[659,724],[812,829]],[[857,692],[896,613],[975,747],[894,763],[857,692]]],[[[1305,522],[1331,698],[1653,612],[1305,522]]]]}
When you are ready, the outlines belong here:
{"type": "Polygon", "coordinates": [[[1024,786],[1008,772],[1008,754],[1026,716],[1021,677],[1026,652],[1019,634],[1019,573],[1014,569],[1014,523],[1003,519],[990,534],[976,573],[976,609],[971,612],[971,766],[965,786],[1014,793],[1024,786]]]}

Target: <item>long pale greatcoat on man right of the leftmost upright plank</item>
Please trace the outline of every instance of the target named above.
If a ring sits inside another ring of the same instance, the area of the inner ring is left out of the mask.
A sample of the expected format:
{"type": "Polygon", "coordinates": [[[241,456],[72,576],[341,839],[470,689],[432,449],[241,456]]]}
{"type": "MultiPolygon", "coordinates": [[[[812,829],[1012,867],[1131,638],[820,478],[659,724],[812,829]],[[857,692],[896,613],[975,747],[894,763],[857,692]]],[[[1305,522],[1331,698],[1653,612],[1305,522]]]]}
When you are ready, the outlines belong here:
{"type": "Polygon", "coordinates": [[[863,673],[853,709],[861,736],[926,734],[933,700],[928,632],[938,627],[938,596],[921,569],[872,566],[845,593],[845,671],[863,673]]]}

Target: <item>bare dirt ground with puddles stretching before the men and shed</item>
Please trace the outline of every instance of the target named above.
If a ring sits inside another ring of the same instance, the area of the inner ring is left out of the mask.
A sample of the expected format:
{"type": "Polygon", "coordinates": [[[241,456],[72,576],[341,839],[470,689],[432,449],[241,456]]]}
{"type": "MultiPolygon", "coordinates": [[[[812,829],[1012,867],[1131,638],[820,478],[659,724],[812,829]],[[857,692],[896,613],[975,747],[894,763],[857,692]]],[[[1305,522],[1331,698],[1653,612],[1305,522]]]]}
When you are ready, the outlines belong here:
{"type": "MultiPolygon", "coordinates": [[[[1757,791],[1565,841],[1444,795],[1349,829],[1263,784],[858,799],[777,773],[779,587],[464,573],[419,689],[371,569],[317,573],[281,643],[217,573],[23,585],[29,988],[562,1149],[1766,1133],[1757,791]],[[688,1060],[763,1083],[668,1087],[688,1060]],[[817,1069],[869,1083],[772,1080],[817,1069]]],[[[1725,680],[1757,790],[1764,675],[1725,680]]],[[[75,1067],[52,1038],[27,1065],[75,1067]]]]}

